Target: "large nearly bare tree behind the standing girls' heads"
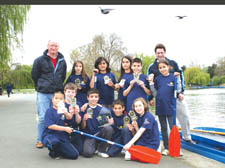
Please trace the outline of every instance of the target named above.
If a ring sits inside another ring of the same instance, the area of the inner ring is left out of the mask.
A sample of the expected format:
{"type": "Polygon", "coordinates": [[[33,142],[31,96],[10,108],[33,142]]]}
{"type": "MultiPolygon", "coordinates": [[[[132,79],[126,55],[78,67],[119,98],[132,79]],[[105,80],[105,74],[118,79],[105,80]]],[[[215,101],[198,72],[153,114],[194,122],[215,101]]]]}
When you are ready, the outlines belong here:
{"type": "Polygon", "coordinates": [[[83,61],[85,70],[90,74],[98,57],[105,57],[112,70],[118,71],[120,60],[126,53],[127,49],[123,47],[120,37],[114,33],[109,38],[101,34],[94,36],[91,43],[74,49],[70,58],[72,63],[76,60],[83,61]]]}

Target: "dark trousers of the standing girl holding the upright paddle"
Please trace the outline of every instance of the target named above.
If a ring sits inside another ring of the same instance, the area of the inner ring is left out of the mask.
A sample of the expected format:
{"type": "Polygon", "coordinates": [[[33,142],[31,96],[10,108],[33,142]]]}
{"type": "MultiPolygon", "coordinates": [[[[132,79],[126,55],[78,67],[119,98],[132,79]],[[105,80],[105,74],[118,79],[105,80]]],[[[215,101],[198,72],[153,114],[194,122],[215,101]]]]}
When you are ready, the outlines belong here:
{"type": "Polygon", "coordinates": [[[165,149],[168,149],[168,131],[167,122],[169,123],[170,130],[173,127],[173,115],[159,115],[159,122],[161,127],[161,133],[163,138],[163,145],[165,149]]]}

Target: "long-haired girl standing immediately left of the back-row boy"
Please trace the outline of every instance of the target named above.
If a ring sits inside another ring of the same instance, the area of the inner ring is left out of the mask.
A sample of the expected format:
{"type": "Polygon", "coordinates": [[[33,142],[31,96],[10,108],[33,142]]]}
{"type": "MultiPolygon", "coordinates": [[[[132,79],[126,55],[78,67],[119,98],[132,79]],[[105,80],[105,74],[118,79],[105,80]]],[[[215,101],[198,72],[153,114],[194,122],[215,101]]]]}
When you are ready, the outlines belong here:
{"type": "Polygon", "coordinates": [[[115,85],[116,89],[119,89],[118,92],[118,99],[124,102],[125,108],[126,108],[126,97],[123,96],[123,87],[126,82],[126,80],[129,78],[129,76],[132,75],[132,58],[130,56],[124,56],[121,61],[121,67],[120,67],[120,77],[118,79],[118,84],[115,85]]]}

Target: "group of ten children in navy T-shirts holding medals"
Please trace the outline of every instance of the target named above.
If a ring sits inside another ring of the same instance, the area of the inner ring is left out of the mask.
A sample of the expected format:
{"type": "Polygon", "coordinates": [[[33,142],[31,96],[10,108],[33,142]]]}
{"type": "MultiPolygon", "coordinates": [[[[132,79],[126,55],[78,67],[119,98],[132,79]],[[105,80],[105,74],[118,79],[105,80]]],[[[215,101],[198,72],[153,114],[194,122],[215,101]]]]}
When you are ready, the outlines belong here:
{"type": "Polygon", "coordinates": [[[161,76],[156,78],[155,84],[151,76],[149,78],[142,74],[142,61],[139,58],[122,58],[118,82],[104,57],[99,57],[94,66],[89,79],[83,63],[76,61],[64,93],[54,93],[53,106],[46,112],[42,135],[49,156],[77,159],[79,155],[92,157],[97,153],[108,158],[122,151],[120,147],[76,134],[74,129],[123,144],[125,160],[136,160],[128,152],[132,145],[158,150],[158,123],[147,104],[151,92],[156,97],[156,114],[163,132],[164,147],[168,149],[165,127],[166,119],[171,126],[173,118],[171,95],[173,97],[175,77],[169,74],[166,60],[159,62],[161,76]],[[118,90],[117,100],[114,100],[115,89],[118,90]]]}

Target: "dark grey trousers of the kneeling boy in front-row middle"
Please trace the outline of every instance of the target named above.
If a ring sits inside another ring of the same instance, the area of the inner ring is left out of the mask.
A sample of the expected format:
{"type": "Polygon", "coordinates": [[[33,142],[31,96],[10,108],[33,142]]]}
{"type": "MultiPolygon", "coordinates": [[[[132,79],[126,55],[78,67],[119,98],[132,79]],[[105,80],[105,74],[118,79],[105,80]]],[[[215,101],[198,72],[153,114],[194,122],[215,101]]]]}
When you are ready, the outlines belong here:
{"type": "MultiPolygon", "coordinates": [[[[111,126],[105,126],[96,134],[96,136],[111,140],[113,132],[114,130],[111,126]]],[[[92,138],[86,138],[83,145],[83,156],[92,157],[97,147],[99,152],[106,153],[108,146],[109,145],[105,142],[97,141],[92,138]]]]}

